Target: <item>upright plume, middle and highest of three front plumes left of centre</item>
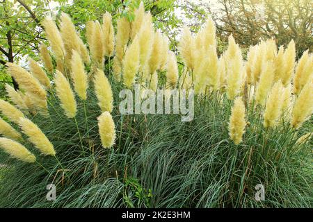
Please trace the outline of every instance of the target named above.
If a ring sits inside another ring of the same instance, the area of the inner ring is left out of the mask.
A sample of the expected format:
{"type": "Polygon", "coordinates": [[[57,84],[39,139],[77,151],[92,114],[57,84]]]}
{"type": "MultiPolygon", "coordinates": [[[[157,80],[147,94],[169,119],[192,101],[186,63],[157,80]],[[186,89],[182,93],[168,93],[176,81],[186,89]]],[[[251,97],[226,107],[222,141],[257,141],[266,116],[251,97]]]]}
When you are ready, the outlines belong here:
{"type": "Polygon", "coordinates": [[[74,89],[80,99],[87,99],[88,77],[83,65],[83,60],[77,51],[72,53],[72,80],[74,83],[74,89]]]}

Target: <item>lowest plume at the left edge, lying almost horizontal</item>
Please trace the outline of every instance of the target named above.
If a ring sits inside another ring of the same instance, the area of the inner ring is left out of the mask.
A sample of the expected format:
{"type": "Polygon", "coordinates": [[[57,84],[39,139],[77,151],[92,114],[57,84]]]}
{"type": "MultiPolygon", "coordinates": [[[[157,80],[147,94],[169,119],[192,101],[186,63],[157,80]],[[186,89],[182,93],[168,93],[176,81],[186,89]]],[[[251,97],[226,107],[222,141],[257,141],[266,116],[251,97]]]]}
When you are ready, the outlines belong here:
{"type": "Polygon", "coordinates": [[[0,137],[0,147],[3,151],[10,154],[12,157],[22,160],[24,162],[35,162],[36,157],[33,153],[29,152],[22,144],[13,141],[12,139],[7,139],[0,137]]]}

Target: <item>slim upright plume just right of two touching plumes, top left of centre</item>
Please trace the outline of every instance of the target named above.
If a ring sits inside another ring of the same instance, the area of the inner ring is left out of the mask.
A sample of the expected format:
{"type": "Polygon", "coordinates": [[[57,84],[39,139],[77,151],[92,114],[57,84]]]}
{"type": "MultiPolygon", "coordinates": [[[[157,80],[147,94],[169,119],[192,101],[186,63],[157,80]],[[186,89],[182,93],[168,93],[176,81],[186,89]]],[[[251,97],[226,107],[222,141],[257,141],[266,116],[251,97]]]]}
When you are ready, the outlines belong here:
{"type": "Polygon", "coordinates": [[[109,12],[106,12],[103,16],[103,26],[104,34],[104,56],[113,56],[114,51],[114,28],[112,25],[112,17],[109,12]]]}

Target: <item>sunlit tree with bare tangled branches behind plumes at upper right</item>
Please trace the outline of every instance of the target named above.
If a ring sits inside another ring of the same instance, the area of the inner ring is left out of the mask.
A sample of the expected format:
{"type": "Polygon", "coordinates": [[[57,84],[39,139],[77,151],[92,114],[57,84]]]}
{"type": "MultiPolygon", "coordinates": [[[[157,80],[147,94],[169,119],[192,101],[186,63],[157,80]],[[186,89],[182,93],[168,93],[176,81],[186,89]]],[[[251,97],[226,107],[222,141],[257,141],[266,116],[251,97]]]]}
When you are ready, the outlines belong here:
{"type": "Polygon", "coordinates": [[[291,39],[296,43],[297,56],[312,51],[311,0],[218,0],[216,9],[202,3],[216,22],[218,36],[226,41],[234,36],[243,47],[274,37],[278,46],[291,39]]]}

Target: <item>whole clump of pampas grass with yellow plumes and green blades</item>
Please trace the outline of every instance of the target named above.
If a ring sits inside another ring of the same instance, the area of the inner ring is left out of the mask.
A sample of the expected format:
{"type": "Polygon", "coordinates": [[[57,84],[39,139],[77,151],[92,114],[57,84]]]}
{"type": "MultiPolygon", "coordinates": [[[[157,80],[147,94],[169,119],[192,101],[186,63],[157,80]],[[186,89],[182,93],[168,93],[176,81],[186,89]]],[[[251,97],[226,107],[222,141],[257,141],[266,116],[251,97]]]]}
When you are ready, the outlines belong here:
{"type": "Polygon", "coordinates": [[[88,49],[70,17],[48,17],[52,51],[8,65],[20,89],[0,100],[0,207],[311,207],[312,56],[264,40],[243,61],[230,36],[218,57],[209,18],[183,29],[181,67],[143,3],[134,14],[117,33],[108,13],[88,22],[88,49]],[[134,84],[195,89],[194,119],[120,113],[134,84]]]}

